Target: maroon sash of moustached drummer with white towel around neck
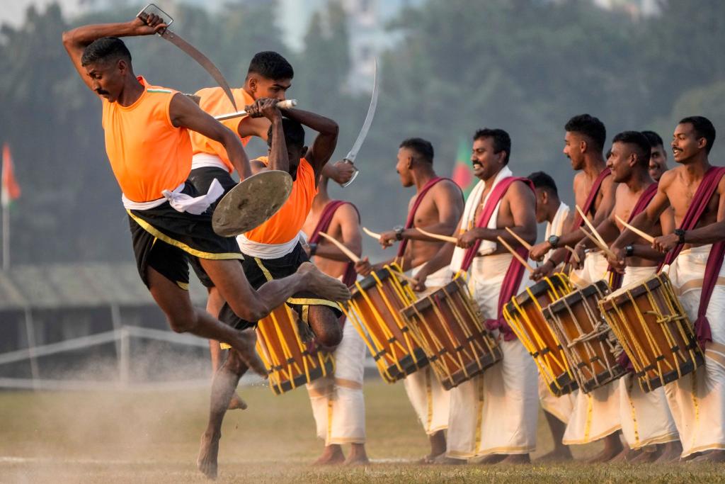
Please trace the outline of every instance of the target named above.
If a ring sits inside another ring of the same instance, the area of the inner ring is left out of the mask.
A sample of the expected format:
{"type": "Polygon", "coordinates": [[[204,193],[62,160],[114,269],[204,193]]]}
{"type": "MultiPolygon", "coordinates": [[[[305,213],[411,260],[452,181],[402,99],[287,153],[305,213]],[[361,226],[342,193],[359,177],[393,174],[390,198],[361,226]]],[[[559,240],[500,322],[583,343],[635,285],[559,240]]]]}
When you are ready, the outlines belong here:
{"type": "MultiPolygon", "coordinates": [[[[491,216],[496,209],[496,205],[498,205],[498,203],[501,201],[504,194],[508,190],[508,187],[511,186],[514,181],[523,181],[526,186],[529,186],[532,192],[534,191],[534,184],[529,179],[518,178],[515,176],[509,176],[508,178],[502,179],[496,186],[494,186],[494,189],[489,195],[489,200],[486,201],[484,209],[481,210],[481,216],[479,216],[479,221],[476,223],[476,227],[488,226],[489,220],[491,219],[491,216]]],[[[476,253],[479,251],[479,247],[481,247],[480,239],[476,241],[473,247],[465,251],[463,263],[461,264],[462,271],[468,271],[468,268],[471,267],[471,263],[473,263],[473,258],[476,257],[476,253]]],[[[518,253],[518,255],[521,255],[521,257],[524,259],[529,256],[529,251],[521,246],[518,246],[516,248],[516,253],[518,253]]],[[[523,279],[523,271],[524,268],[521,263],[513,258],[508,266],[508,269],[506,270],[506,275],[504,276],[503,282],[501,284],[498,308],[496,310],[496,319],[487,319],[485,321],[486,327],[488,329],[490,329],[491,331],[493,331],[494,329],[498,329],[501,332],[504,341],[512,341],[516,339],[516,335],[514,334],[513,330],[510,328],[505,319],[503,319],[502,312],[504,305],[508,303],[511,298],[513,298],[513,296],[516,295],[518,287],[521,285],[521,279],[523,279]]]]}

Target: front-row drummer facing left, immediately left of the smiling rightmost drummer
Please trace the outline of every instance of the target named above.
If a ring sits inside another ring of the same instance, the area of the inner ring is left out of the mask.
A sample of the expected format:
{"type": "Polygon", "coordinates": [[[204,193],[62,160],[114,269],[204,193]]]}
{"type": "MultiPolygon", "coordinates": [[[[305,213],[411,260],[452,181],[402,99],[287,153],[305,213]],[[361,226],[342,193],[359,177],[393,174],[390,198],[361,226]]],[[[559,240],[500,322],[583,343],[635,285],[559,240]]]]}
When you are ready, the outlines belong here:
{"type": "MultiPolygon", "coordinates": [[[[629,221],[647,208],[657,192],[657,184],[650,178],[650,153],[652,147],[645,134],[638,131],[624,131],[614,136],[611,156],[607,166],[617,184],[616,202],[612,213],[597,226],[597,232],[605,242],[613,242],[623,228],[616,217],[629,221]]],[[[650,231],[659,236],[663,230],[674,230],[671,210],[664,210],[660,221],[650,231]]],[[[576,253],[584,258],[584,250],[594,247],[589,239],[576,245],[576,253]]],[[[653,249],[643,239],[636,239],[625,248],[627,268],[624,278],[615,274],[611,289],[643,282],[657,271],[664,255],[653,249]]],[[[629,448],[633,449],[623,457],[631,462],[653,462],[654,459],[669,461],[679,457],[682,446],[674,419],[667,405],[663,387],[645,393],[627,374],[619,380],[620,418],[622,432],[629,448]],[[637,455],[639,454],[639,455],[637,455]]]]}

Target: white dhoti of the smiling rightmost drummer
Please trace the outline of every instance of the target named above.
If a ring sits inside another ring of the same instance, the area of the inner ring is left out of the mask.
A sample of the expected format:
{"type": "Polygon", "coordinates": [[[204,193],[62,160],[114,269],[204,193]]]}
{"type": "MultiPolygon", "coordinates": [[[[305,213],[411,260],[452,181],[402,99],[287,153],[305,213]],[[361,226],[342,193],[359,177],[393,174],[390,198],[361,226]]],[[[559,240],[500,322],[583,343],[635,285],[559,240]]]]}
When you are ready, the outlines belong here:
{"type": "MultiPolygon", "coordinates": [[[[683,250],[675,259],[670,278],[690,321],[697,319],[703,292],[705,264],[711,245],[683,250]]],[[[670,403],[682,456],[700,451],[725,449],[725,264],[706,313],[713,336],[705,345],[705,365],[668,384],[670,403]]]]}

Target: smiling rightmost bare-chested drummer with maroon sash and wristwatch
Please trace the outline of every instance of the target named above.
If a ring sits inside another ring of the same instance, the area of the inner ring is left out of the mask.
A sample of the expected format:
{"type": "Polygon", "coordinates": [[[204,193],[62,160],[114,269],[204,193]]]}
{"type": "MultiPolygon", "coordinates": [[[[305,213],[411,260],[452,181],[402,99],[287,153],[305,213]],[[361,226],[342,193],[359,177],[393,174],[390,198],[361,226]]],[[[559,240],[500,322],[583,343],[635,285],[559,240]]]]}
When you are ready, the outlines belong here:
{"type": "MultiPolygon", "coordinates": [[[[678,226],[653,245],[671,250],[666,257],[669,276],[705,350],[704,367],[666,388],[682,458],[698,462],[725,462],[725,288],[720,282],[725,270],[721,246],[715,243],[722,242],[725,223],[725,170],[710,164],[715,135],[713,123],[703,116],[680,120],[671,143],[679,166],[663,174],[647,210],[631,221],[649,232],[671,207],[678,226]]],[[[634,237],[629,229],[622,232],[612,246],[612,263],[626,263],[625,247],[634,237]]]]}

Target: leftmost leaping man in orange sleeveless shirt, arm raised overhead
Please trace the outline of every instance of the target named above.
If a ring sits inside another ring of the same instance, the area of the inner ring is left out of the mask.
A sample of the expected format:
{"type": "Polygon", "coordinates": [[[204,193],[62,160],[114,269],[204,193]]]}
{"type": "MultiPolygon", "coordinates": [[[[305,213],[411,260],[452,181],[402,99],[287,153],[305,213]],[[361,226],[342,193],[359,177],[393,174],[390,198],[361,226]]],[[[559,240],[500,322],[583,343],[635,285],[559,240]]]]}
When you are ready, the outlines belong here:
{"type": "MultiPolygon", "coordinates": [[[[254,352],[253,332],[234,329],[191,304],[186,290],[188,255],[202,258],[204,270],[217,283],[231,313],[250,321],[267,316],[302,289],[333,300],[349,298],[349,290],[312,264],[300,266],[295,274],[258,291],[250,287],[234,239],[219,237],[212,230],[208,207],[220,195],[220,187],[216,184],[199,195],[186,183],[191,169],[187,130],[221,143],[229,159],[247,176],[249,161],[239,139],[177,91],[150,86],[144,78],[137,78],[130,52],[123,41],[113,37],[152,35],[165,26],[156,15],[86,25],[65,32],[63,44],[80,77],[102,98],[107,155],[123,192],[141,279],[175,332],[222,340],[233,348],[212,384],[213,398],[226,409],[247,366],[261,373],[265,369],[254,352]],[[231,391],[229,382],[233,382],[231,391]]],[[[218,433],[204,434],[198,464],[207,476],[217,472],[219,437],[218,433]]]]}

